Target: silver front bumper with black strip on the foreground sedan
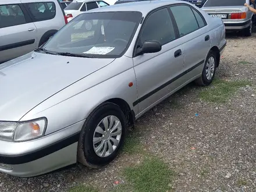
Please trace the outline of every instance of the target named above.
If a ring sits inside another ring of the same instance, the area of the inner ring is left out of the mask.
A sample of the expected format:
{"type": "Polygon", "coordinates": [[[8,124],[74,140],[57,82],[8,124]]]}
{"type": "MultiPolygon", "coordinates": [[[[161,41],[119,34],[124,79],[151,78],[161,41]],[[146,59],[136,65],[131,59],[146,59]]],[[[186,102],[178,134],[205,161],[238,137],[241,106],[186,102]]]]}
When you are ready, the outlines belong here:
{"type": "Polygon", "coordinates": [[[0,172],[32,177],[76,163],[83,123],[84,120],[32,141],[0,141],[0,172]]]}

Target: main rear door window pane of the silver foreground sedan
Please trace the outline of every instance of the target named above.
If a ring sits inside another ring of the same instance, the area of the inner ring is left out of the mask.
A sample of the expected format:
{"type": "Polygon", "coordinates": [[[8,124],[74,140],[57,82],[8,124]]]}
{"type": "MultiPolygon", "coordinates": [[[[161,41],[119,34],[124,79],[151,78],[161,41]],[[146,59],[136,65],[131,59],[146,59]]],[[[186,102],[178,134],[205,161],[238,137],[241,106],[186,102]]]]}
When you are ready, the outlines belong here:
{"type": "Polygon", "coordinates": [[[180,37],[199,29],[194,13],[189,6],[171,6],[170,10],[172,10],[173,16],[175,17],[180,37]]]}

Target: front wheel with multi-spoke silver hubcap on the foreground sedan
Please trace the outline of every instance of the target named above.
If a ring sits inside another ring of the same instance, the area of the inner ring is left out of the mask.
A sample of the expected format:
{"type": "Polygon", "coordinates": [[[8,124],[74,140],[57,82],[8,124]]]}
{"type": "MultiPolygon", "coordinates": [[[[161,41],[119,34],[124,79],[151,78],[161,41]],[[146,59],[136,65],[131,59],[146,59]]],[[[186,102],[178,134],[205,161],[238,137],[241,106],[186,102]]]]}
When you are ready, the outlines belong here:
{"type": "Polygon", "coordinates": [[[78,161],[90,168],[101,168],[113,161],[125,140],[127,130],[125,122],[125,115],[118,105],[105,102],[98,106],[88,116],[81,130],[77,151],[78,161]],[[109,131],[105,129],[107,125],[110,127],[109,131]],[[111,136],[110,130],[113,126],[118,127],[112,132],[117,136],[111,136]]]}

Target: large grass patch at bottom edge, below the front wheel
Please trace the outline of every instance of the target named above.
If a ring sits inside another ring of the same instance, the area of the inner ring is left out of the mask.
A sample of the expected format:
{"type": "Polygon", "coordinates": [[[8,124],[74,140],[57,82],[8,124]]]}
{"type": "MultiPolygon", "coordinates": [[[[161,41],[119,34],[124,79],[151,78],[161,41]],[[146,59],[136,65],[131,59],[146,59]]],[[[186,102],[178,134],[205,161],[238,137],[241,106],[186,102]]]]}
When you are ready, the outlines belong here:
{"type": "MultiPolygon", "coordinates": [[[[125,168],[123,174],[131,183],[133,191],[140,192],[170,191],[174,176],[168,165],[155,157],[145,158],[142,164],[125,168]]],[[[127,186],[120,186],[118,191],[127,191],[127,186]]]]}

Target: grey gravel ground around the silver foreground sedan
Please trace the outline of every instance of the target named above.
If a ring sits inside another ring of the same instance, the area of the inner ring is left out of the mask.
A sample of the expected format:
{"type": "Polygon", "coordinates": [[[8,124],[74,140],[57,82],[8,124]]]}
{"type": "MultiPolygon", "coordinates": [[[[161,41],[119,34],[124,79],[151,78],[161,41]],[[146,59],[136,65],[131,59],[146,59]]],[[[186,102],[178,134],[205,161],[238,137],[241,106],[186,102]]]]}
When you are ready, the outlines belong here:
{"type": "MultiPolygon", "coordinates": [[[[191,83],[137,120],[133,131],[143,150],[177,173],[173,191],[256,191],[255,37],[227,35],[216,77],[251,85],[226,103],[204,101],[205,88],[191,83]]],[[[33,178],[0,173],[0,191],[67,191],[79,183],[110,191],[115,180],[125,181],[123,168],[141,161],[143,155],[125,153],[99,170],[75,165],[33,178]]]]}

